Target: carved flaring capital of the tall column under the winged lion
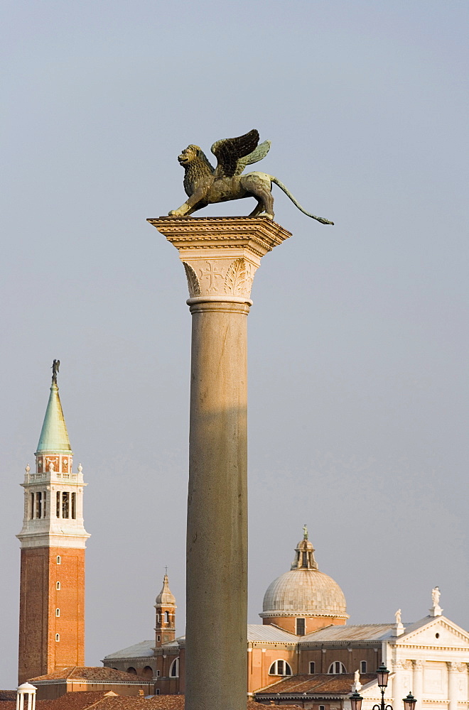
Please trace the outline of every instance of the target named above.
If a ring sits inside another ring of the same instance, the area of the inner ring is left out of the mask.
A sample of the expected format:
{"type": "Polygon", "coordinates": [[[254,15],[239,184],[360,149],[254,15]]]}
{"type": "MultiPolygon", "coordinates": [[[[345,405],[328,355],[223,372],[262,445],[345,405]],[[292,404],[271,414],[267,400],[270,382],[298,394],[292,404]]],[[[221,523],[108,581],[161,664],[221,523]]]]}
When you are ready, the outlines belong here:
{"type": "Polygon", "coordinates": [[[158,217],[147,222],[178,250],[190,300],[210,296],[249,302],[262,256],[291,236],[266,217],[158,217]]]}

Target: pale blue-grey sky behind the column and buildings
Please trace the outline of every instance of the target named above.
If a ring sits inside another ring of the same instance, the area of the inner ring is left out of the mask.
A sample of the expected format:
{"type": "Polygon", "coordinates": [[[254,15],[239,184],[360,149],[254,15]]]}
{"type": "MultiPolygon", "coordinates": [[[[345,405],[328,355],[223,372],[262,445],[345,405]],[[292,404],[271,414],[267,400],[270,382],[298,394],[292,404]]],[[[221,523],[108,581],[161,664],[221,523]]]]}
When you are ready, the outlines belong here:
{"type": "MultiPolygon", "coordinates": [[[[308,525],[349,623],[469,628],[468,4],[4,0],[0,687],[50,365],[87,481],[86,662],[184,633],[190,314],[146,222],[177,155],[257,128],[291,239],[249,315],[249,623],[308,525]]],[[[247,214],[253,200],[203,214],[247,214]]]]}

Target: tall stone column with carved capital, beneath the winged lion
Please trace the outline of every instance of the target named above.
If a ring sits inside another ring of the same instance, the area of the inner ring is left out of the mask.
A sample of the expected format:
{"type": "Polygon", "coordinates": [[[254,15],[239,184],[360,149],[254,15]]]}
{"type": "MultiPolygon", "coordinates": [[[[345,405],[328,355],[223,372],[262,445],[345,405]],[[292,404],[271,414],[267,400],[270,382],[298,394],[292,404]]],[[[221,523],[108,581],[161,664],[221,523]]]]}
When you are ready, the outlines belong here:
{"type": "Polygon", "coordinates": [[[193,315],[185,709],[247,700],[247,315],[289,232],[265,217],[149,219],[179,251],[193,315]]]}

